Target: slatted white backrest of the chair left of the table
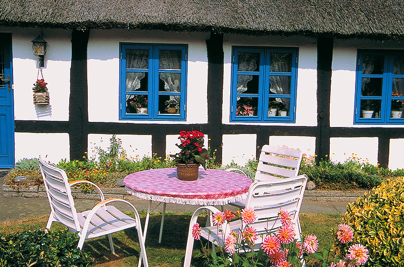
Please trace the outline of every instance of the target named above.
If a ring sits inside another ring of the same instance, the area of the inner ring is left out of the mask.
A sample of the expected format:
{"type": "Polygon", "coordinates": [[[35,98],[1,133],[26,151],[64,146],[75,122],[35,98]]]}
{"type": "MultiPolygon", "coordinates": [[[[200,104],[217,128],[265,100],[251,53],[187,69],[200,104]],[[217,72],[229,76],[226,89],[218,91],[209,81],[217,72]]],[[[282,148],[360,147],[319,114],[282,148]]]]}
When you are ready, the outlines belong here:
{"type": "Polygon", "coordinates": [[[51,206],[51,215],[71,231],[80,232],[77,211],[66,172],[39,159],[43,183],[51,206]]]}

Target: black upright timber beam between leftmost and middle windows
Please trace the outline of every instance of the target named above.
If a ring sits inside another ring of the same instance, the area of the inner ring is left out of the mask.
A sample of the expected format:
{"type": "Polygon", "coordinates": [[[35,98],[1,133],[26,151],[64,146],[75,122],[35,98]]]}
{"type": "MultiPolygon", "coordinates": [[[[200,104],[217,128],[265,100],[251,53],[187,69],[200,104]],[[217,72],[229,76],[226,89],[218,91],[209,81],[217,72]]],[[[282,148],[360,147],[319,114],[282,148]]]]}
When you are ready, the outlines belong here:
{"type": "Polygon", "coordinates": [[[208,129],[209,146],[216,151],[216,163],[222,163],[222,106],[224,52],[223,34],[211,32],[206,40],[208,54],[208,129]]]}

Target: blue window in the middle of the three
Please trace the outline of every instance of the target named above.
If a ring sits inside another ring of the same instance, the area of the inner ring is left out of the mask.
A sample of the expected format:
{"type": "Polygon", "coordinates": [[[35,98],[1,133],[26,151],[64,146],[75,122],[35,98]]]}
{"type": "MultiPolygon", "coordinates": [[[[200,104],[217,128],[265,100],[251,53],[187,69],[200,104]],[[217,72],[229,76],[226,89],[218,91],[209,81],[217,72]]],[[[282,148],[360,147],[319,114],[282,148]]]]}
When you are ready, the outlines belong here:
{"type": "Polygon", "coordinates": [[[231,121],[294,122],[297,51],[233,47],[231,121]]]}

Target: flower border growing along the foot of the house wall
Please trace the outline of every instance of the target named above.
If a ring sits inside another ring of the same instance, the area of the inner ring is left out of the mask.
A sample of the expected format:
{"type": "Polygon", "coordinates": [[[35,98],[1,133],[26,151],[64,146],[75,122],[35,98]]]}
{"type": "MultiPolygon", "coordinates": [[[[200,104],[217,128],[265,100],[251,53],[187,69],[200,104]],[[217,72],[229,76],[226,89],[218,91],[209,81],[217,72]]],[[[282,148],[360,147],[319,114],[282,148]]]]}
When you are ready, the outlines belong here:
{"type": "MultiPolygon", "coordinates": [[[[87,153],[86,153],[87,154],[87,153]]],[[[216,150],[208,147],[209,158],[206,162],[207,168],[227,169],[239,168],[248,177],[254,179],[257,170],[257,160],[249,160],[245,166],[239,166],[232,162],[226,166],[215,164],[216,150]]],[[[110,138],[110,145],[105,150],[95,147],[93,154],[88,157],[83,156],[82,160],[61,160],[56,166],[64,169],[69,177],[69,181],[84,179],[94,182],[103,187],[117,187],[116,179],[124,178],[126,175],[156,168],[169,168],[171,158],[162,159],[157,154],[151,157],[128,157],[122,149],[122,141],[113,135],[110,138]]],[[[302,160],[299,174],[306,174],[309,180],[316,183],[321,190],[351,190],[356,188],[372,188],[382,181],[392,177],[404,175],[404,169],[391,171],[388,168],[381,168],[370,164],[367,160],[358,158],[352,154],[343,163],[335,163],[330,159],[315,161],[302,160]]],[[[39,173],[36,159],[22,159],[16,163],[15,168],[5,177],[5,183],[13,188],[23,185],[41,185],[42,178],[39,173]],[[25,182],[15,183],[17,176],[26,176],[25,182]]],[[[81,185],[81,189],[89,190],[90,187],[81,185]]]]}

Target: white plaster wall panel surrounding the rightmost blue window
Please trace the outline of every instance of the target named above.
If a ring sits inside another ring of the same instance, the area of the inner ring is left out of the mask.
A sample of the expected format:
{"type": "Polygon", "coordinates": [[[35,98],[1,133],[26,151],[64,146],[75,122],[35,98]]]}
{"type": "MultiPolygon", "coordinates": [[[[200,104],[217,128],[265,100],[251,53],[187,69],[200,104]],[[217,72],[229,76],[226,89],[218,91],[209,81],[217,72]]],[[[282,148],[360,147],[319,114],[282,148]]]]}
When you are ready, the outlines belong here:
{"type": "Polygon", "coordinates": [[[354,125],[355,85],[358,49],[404,49],[395,41],[335,39],[332,60],[330,126],[331,127],[404,127],[404,125],[354,125]]]}

